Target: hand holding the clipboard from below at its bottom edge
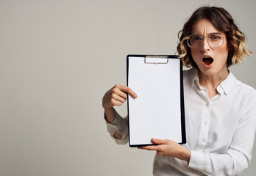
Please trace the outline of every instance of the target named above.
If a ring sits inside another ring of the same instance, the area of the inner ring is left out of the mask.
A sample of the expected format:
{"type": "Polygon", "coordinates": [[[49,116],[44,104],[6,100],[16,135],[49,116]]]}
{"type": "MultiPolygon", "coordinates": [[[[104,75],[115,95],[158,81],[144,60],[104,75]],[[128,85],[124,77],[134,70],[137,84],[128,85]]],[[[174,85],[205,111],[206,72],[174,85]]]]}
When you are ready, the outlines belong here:
{"type": "Polygon", "coordinates": [[[154,138],[152,139],[152,142],[157,145],[138,147],[138,149],[155,150],[158,155],[176,157],[189,163],[189,160],[191,158],[191,151],[185,149],[185,147],[182,147],[177,142],[168,139],[162,140],[154,138]]]}

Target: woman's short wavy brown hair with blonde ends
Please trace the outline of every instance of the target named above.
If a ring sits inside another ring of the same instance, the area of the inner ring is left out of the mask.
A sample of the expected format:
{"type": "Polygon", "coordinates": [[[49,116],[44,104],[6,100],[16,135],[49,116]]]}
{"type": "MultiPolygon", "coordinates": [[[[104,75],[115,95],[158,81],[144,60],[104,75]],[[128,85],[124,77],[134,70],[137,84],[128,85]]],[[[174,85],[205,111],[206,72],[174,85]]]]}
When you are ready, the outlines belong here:
{"type": "Polygon", "coordinates": [[[177,51],[183,65],[186,67],[197,67],[191,55],[191,48],[185,42],[185,37],[191,35],[193,25],[201,19],[209,20],[216,29],[226,34],[229,48],[227,67],[241,63],[245,55],[252,55],[252,52],[245,47],[246,34],[238,29],[238,26],[236,26],[235,21],[227,10],[222,7],[199,7],[199,9],[193,12],[191,18],[188,19],[183,29],[178,33],[179,43],[177,51]]]}

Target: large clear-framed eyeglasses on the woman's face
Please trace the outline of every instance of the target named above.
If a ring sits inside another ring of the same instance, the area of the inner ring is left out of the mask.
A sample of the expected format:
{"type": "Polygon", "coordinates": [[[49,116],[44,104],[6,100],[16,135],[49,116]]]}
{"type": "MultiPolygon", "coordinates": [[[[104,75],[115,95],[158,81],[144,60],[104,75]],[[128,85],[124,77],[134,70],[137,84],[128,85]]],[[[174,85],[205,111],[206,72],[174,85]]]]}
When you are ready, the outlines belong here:
{"type": "Polygon", "coordinates": [[[223,45],[225,37],[223,34],[219,33],[209,34],[206,37],[203,37],[199,34],[193,34],[185,37],[184,40],[187,40],[188,46],[190,48],[199,48],[202,46],[204,38],[207,38],[207,43],[211,48],[218,48],[223,45]]]}

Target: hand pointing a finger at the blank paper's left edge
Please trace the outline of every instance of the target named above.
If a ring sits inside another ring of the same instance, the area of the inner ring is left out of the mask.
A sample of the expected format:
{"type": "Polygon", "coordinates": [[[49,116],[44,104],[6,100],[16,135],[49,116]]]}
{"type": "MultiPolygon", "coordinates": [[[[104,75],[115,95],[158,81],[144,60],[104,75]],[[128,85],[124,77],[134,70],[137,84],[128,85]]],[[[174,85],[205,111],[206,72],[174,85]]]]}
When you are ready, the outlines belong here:
{"type": "Polygon", "coordinates": [[[129,87],[116,84],[113,88],[108,90],[102,98],[102,106],[104,109],[110,109],[113,106],[121,106],[127,99],[127,93],[132,96],[132,98],[137,98],[138,96],[129,87]]]}

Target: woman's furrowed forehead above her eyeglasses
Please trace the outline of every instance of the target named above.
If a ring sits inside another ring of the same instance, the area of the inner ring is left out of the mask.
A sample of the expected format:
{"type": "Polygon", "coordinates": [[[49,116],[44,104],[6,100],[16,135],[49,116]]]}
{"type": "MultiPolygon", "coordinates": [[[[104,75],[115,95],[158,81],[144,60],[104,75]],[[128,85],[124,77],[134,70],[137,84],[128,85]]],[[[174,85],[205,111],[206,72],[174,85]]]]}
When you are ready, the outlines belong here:
{"type": "Polygon", "coordinates": [[[194,23],[192,27],[192,34],[210,34],[210,33],[221,33],[224,34],[224,32],[219,31],[216,29],[216,27],[207,19],[201,19],[194,23]]]}

